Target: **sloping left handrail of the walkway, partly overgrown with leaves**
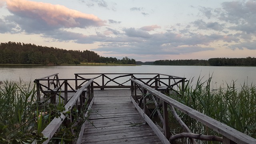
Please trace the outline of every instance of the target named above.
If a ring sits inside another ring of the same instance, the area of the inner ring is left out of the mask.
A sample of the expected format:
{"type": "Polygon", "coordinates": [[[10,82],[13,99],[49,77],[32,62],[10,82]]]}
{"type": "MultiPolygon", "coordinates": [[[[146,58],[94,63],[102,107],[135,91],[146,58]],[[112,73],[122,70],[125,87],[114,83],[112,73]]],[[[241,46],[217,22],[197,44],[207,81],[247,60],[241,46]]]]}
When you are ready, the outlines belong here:
{"type": "MultiPolygon", "coordinates": [[[[66,103],[64,112],[71,111],[74,106],[76,106],[76,108],[77,108],[78,99],[80,99],[80,103],[82,102],[81,104],[83,106],[86,106],[87,110],[90,110],[90,108],[94,102],[93,78],[88,80],[88,82],[86,84],[84,84],[80,89],[78,89],[76,91],[74,96],[66,103]],[[82,100],[83,99],[82,92],[84,92],[85,90],[87,90],[86,91],[86,93],[87,93],[86,100],[82,100]]],[[[86,112],[86,116],[88,115],[88,112],[89,111],[86,112]]],[[[66,118],[66,116],[64,116],[64,114],[61,114],[61,116],[59,118],[54,118],[50,122],[50,124],[48,124],[48,126],[42,131],[42,134],[48,138],[48,140],[46,140],[43,144],[47,144],[50,141],[50,139],[52,138],[54,133],[58,130],[60,125],[64,122],[65,118],[66,118]]],[[[70,120],[70,122],[72,122],[71,114],[70,114],[69,120],[70,120]]],[[[81,131],[84,131],[83,128],[84,128],[84,124],[82,125],[81,131]]],[[[81,139],[82,139],[82,135],[79,134],[78,140],[81,140],[81,139]]],[[[34,144],[35,144],[35,142],[34,142],[34,144]]]]}

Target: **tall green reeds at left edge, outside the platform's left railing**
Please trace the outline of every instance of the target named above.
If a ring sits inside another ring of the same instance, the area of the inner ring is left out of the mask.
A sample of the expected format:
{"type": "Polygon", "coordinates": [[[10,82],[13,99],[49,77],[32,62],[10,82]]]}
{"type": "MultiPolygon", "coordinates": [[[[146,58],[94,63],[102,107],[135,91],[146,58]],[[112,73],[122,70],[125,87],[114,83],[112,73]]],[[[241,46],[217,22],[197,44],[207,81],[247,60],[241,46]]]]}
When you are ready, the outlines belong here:
{"type": "Polygon", "coordinates": [[[35,89],[30,84],[9,82],[0,87],[0,143],[42,142],[42,134],[36,132],[37,105],[35,89]]]}

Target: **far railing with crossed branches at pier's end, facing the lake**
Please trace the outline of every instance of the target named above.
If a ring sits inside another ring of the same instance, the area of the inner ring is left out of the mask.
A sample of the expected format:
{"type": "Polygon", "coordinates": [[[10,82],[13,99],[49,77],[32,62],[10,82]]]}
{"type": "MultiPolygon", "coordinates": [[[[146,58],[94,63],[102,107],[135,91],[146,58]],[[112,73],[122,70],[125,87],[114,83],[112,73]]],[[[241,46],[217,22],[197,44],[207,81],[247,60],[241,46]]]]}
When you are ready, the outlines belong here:
{"type": "Polygon", "coordinates": [[[141,82],[148,84],[151,87],[164,86],[165,88],[178,83],[181,83],[182,89],[184,89],[184,83],[186,78],[171,76],[167,74],[156,74],[156,73],[85,73],[85,74],[75,74],[76,88],[80,88],[81,85],[86,82],[78,83],[78,80],[85,78],[94,78],[94,88],[100,88],[104,90],[105,88],[129,88],[131,86],[130,78],[137,78],[141,82]],[[156,83],[156,80],[157,83],[156,83]]]}

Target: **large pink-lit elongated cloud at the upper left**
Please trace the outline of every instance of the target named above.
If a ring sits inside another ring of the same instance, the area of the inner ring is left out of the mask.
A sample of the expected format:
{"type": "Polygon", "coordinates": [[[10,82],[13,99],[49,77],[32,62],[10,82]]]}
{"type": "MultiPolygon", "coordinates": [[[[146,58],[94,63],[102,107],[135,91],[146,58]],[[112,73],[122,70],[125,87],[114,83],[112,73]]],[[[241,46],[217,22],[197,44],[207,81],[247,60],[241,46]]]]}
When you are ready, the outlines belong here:
{"type": "Polygon", "coordinates": [[[61,5],[28,0],[6,0],[10,12],[27,18],[44,20],[49,26],[65,28],[104,26],[105,21],[93,14],[84,14],[61,5]]]}

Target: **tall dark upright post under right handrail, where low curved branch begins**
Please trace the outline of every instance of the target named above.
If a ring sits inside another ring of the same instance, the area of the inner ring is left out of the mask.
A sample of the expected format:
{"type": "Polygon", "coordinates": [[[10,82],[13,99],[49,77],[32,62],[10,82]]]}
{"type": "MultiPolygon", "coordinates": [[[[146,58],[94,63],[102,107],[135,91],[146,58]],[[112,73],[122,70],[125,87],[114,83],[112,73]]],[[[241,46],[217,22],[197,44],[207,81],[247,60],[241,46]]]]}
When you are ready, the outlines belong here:
{"type": "Polygon", "coordinates": [[[164,136],[169,140],[170,138],[170,126],[168,121],[168,109],[167,109],[167,103],[163,102],[163,115],[164,115],[164,136]]]}

